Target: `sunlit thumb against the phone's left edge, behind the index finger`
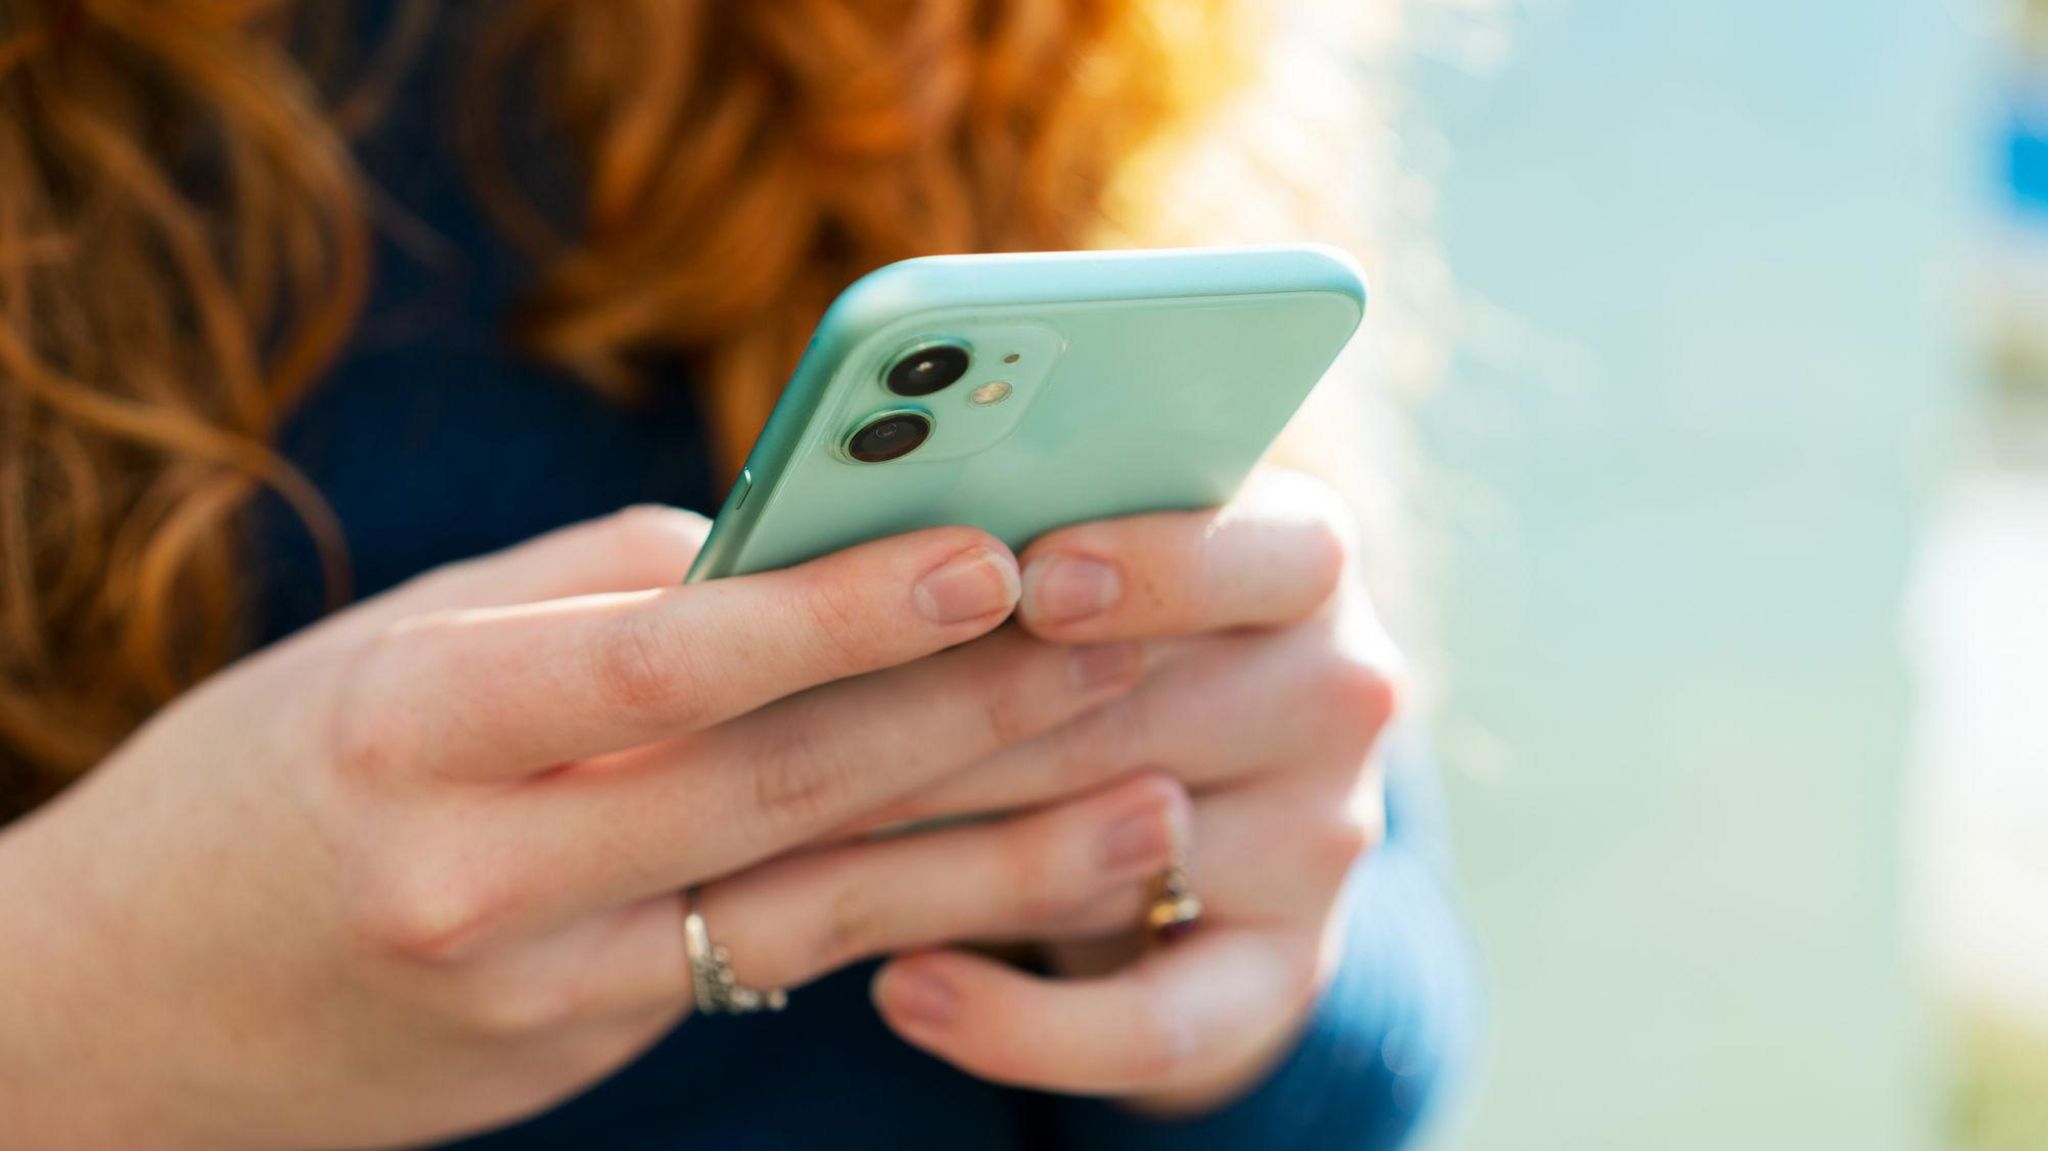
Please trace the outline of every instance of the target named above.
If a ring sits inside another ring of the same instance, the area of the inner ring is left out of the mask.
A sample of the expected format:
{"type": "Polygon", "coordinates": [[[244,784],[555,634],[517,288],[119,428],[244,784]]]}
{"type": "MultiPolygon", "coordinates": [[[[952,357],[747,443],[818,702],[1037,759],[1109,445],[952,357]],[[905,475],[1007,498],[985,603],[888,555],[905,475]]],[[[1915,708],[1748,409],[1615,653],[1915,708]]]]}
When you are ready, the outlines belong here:
{"type": "Polygon", "coordinates": [[[682,584],[709,532],[711,520],[696,512],[641,504],[436,567],[356,604],[336,625],[375,631],[440,610],[672,588],[682,584]]]}

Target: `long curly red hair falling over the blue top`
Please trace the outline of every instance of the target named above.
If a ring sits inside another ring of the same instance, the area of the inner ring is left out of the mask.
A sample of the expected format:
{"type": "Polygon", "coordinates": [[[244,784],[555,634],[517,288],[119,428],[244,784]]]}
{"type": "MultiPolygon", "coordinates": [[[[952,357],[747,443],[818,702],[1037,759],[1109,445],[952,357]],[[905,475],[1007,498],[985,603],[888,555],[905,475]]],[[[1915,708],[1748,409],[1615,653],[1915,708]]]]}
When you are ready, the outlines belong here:
{"type": "MultiPolygon", "coordinates": [[[[362,307],[350,135],[436,6],[358,45],[338,92],[338,6],[0,0],[0,817],[248,645],[260,489],[346,598],[338,526],[270,444],[362,307]]],[[[1217,236],[1159,158],[1253,84],[1268,20],[1257,0],[510,2],[463,141],[541,268],[508,330],[621,399],[651,387],[639,356],[688,356],[737,467],[811,324],[879,264],[1217,236]],[[573,211],[506,164],[528,115],[578,162],[573,211]]],[[[1219,199],[1241,166],[1198,180],[1219,199]]]]}

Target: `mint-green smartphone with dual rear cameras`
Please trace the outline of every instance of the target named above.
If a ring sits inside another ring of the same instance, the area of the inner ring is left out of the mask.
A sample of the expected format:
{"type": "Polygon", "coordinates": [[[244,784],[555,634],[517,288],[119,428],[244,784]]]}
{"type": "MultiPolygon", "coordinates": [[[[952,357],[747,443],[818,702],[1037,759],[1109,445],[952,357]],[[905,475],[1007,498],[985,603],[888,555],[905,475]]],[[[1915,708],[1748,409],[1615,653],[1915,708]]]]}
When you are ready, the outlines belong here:
{"type": "Polygon", "coordinates": [[[1364,311],[1321,246],[889,264],[825,311],[688,578],[1223,504],[1364,311]]]}

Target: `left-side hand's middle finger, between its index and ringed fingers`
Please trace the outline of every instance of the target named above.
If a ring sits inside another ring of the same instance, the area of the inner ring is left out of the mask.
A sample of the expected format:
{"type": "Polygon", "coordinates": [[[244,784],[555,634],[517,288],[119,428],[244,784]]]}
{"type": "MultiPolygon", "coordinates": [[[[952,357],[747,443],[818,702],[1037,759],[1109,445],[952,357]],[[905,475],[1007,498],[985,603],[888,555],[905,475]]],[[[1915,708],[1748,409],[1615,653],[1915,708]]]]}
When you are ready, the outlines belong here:
{"type": "Polygon", "coordinates": [[[539,780],[504,827],[545,870],[555,907],[539,907],[539,918],[627,903],[817,842],[862,811],[1116,698],[1143,670],[1135,645],[1055,647],[1004,629],[539,780]]]}

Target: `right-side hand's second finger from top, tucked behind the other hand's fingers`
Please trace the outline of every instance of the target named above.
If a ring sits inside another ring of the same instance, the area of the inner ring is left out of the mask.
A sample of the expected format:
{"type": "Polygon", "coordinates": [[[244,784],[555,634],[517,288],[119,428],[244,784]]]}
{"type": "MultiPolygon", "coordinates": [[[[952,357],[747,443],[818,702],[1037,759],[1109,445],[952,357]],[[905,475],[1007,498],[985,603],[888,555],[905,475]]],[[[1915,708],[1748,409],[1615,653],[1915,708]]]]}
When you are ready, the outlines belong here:
{"type": "Polygon", "coordinates": [[[1276,770],[1356,770],[1401,694],[1370,612],[1176,645],[1133,694],[877,811],[870,825],[1004,811],[1159,766],[1200,793],[1276,770]]]}

